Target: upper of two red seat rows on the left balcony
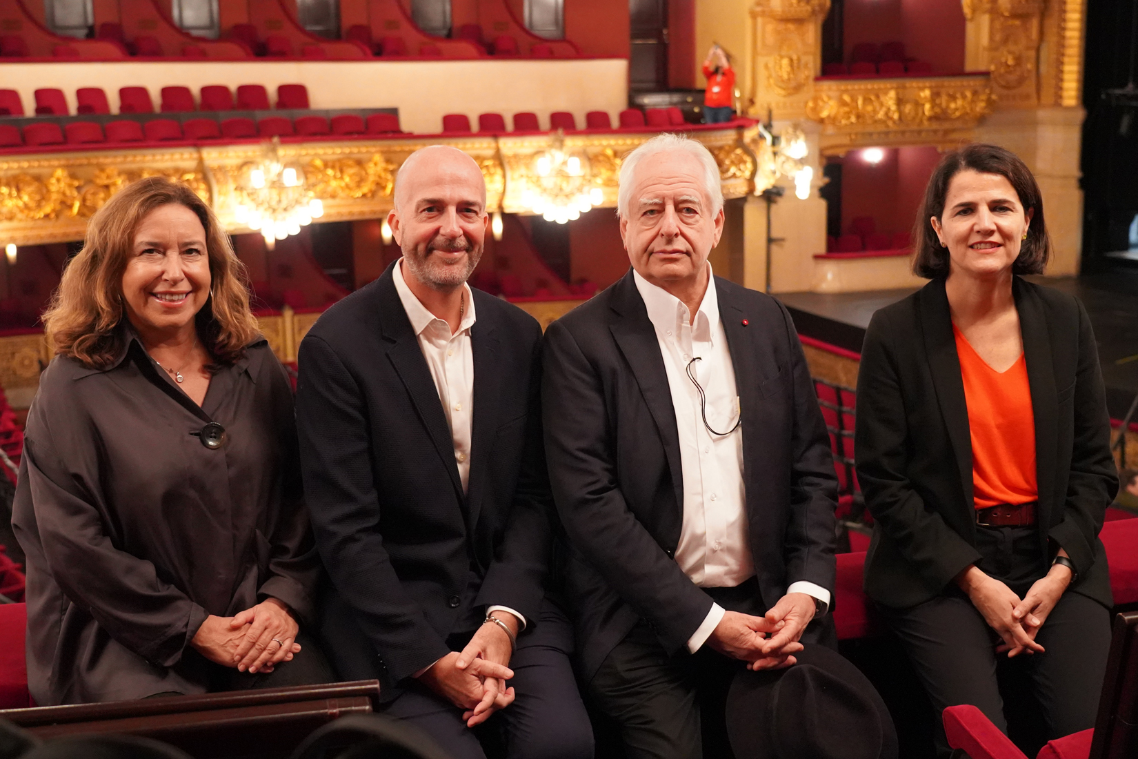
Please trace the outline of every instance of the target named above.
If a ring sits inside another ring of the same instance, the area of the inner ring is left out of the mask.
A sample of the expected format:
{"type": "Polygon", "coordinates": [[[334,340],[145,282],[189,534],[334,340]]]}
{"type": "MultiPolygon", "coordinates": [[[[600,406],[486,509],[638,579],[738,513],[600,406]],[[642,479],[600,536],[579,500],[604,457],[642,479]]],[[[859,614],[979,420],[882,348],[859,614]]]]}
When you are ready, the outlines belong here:
{"type": "MultiPolygon", "coordinates": [[[[79,102],[76,113],[109,115],[107,93],[100,86],[83,86],[75,90],[79,102]]],[[[197,110],[193,93],[188,86],[162,88],[160,110],[188,113],[197,110]]],[[[308,88],[304,84],[281,84],[277,88],[278,109],[304,109],[308,107],[308,88]]],[[[269,92],[262,84],[241,84],[237,88],[237,101],[224,84],[207,84],[201,88],[201,110],[270,110],[269,92]]],[[[124,86],[118,90],[118,113],[152,114],[154,102],[145,86],[124,86]]],[[[16,90],[0,90],[0,115],[23,116],[24,102],[16,90]]],[[[67,98],[63,90],[46,88],[35,91],[36,116],[67,116],[67,98]]]]}

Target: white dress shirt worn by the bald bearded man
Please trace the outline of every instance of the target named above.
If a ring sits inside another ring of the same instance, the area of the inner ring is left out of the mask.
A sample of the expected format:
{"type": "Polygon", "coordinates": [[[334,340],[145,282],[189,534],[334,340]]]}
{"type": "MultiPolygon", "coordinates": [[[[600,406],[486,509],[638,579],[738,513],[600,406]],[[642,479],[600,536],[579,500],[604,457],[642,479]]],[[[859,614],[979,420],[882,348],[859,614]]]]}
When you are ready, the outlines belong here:
{"type": "MultiPolygon", "coordinates": [[[[451,427],[454,444],[454,463],[459,467],[462,492],[470,485],[470,430],[475,412],[475,352],[470,345],[470,328],[475,325],[475,297],[469,284],[463,284],[463,313],[459,329],[453,335],[445,319],[427,310],[403,279],[403,259],[393,272],[395,291],[411,321],[411,329],[419,338],[430,376],[435,380],[438,399],[443,403],[446,423],[451,427]]],[[[526,618],[509,607],[490,607],[492,611],[509,611],[526,627],[526,618]]]]}

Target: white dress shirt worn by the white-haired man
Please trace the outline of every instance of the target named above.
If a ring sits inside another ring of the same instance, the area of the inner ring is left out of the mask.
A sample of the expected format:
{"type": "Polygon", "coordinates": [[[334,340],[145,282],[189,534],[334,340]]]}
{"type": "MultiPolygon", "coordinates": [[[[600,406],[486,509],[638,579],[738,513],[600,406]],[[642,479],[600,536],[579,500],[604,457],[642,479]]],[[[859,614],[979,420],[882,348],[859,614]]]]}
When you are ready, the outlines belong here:
{"type": "MultiPolygon", "coordinates": [[[[633,272],[648,317],[663,356],[671,405],[679,435],[679,463],[684,481],[683,522],[676,563],[700,587],[735,587],[754,575],[743,486],[743,428],[727,432],[739,421],[740,402],[727,333],[719,319],[711,264],[708,289],[694,322],[678,298],[633,272]],[[699,358],[694,363],[692,360],[699,358]],[[687,374],[688,365],[703,388],[706,403],[687,374]],[[707,424],[703,413],[707,414],[707,424]]],[[[758,434],[752,430],[751,434],[758,434]]],[[[807,593],[830,603],[830,592],[814,583],[792,583],[787,593],[807,593]]],[[[714,604],[703,624],[687,641],[693,653],[723,619],[714,604]]]]}

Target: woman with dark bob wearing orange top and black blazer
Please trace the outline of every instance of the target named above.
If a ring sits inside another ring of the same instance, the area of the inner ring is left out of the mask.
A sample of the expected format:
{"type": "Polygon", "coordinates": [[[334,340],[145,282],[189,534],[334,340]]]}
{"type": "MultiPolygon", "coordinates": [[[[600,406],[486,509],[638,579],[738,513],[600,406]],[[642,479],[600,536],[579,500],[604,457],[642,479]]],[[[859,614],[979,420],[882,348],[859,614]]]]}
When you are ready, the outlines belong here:
{"type": "Polygon", "coordinates": [[[1095,336],[1075,298],[1020,277],[1050,242],[1039,187],[1004,148],[945,156],[914,238],[932,281],[874,314],[858,376],[865,589],[938,725],[971,703],[1007,732],[997,670],[1026,677],[1047,728],[1034,756],[1094,727],[1110,646],[1098,530],[1118,479],[1095,336]]]}

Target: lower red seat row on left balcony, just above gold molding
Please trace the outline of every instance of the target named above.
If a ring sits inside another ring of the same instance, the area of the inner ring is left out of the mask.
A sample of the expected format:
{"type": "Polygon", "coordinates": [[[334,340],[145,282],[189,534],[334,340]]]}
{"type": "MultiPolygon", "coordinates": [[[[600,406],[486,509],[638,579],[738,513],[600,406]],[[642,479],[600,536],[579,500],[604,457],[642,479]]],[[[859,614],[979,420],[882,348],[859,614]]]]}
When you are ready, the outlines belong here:
{"type": "Polygon", "coordinates": [[[399,132],[399,117],[395,114],[372,114],[366,121],[355,114],[340,114],[331,119],[323,116],[300,116],[295,121],[270,116],[254,122],[251,118],[191,118],[179,124],[172,118],[156,118],[146,123],[133,121],[73,122],[60,129],[59,124],[44,122],[28,124],[23,133],[16,126],[0,123],[0,148],[46,147],[56,145],[98,145],[104,142],[163,142],[167,140],[240,140],[270,137],[352,137],[361,134],[391,134],[399,132]]]}

